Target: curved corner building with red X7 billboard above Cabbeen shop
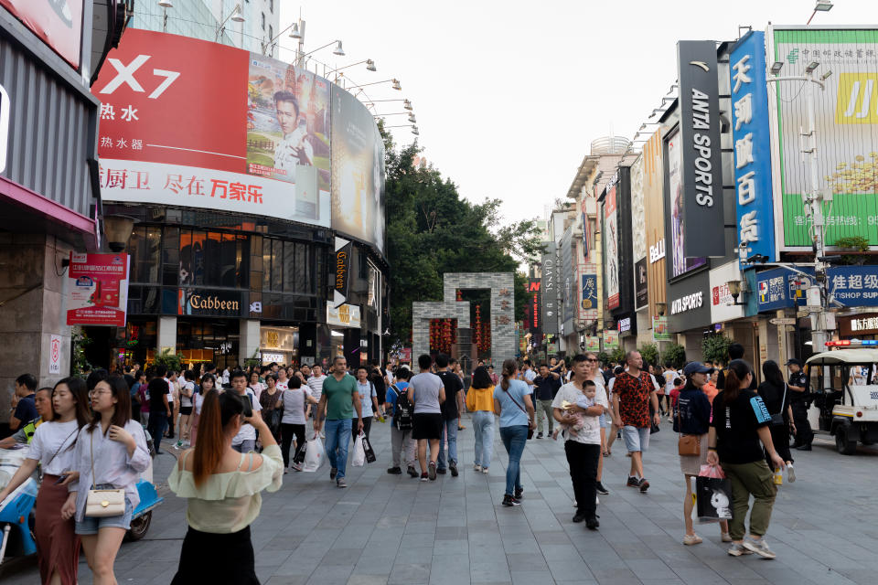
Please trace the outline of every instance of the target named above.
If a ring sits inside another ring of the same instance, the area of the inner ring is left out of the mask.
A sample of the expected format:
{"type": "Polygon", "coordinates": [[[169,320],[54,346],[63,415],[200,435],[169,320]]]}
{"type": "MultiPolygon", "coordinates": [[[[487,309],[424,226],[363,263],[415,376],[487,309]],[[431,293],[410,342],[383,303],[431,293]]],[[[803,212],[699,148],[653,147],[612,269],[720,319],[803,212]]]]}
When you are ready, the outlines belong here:
{"type": "Polygon", "coordinates": [[[130,30],[111,58],[130,75],[94,85],[102,195],[136,223],[127,325],[88,330],[92,351],[220,367],[379,359],[384,146],[366,107],[210,41],[130,30]]]}

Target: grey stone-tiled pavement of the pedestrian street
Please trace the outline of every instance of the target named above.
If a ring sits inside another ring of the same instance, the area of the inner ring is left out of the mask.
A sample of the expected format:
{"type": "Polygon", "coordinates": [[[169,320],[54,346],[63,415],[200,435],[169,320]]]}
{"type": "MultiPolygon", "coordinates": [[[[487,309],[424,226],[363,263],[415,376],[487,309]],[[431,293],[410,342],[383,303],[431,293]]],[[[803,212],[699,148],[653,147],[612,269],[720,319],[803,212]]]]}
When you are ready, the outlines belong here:
{"type": "MultiPolygon", "coordinates": [[[[389,475],[389,425],[380,423],[372,426],[378,461],[348,467],[348,489],[329,481],[327,465],[319,473],[284,475],[279,492],[263,493],[262,514],[252,525],[262,583],[875,582],[878,450],[861,447],[856,456],[845,457],[824,436],[813,452],[794,452],[798,481],[781,487],[767,535],[776,560],[732,558],[716,525],[696,525],[704,538],[700,545],[681,544],[682,476],[669,423],[653,435],[646,455],[651,484],[646,495],[624,486],[630,460],[623,441],[616,441],[604,470],[611,494],[601,496],[601,527],[591,532],[571,521],[572,487],[561,442],[529,441],[522,459],[524,504],[503,507],[502,443],[497,436],[491,473],[476,473],[472,427],[468,418],[463,422],[457,478],[447,474],[422,483],[389,475]]],[[[177,569],[186,520],[185,502],[165,487],[172,457],[156,460],[155,478],[166,503],[155,511],[143,540],[123,544],[115,565],[120,583],[166,584],[177,569]]],[[[36,561],[23,565],[4,584],[36,583],[36,561]]],[[[84,557],[80,583],[91,583],[84,557]]]]}

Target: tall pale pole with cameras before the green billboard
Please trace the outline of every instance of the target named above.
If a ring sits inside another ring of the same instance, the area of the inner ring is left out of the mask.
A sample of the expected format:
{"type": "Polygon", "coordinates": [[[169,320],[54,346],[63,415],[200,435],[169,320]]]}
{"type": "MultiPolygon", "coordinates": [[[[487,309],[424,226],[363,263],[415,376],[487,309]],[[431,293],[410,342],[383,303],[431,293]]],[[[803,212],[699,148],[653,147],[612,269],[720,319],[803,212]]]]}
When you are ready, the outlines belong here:
{"type": "Polygon", "coordinates": [[[830,75],[831,71],[825,73],[819,80],[814,79],[814,70],[819,67],[817,61],[811,61],[805,68],[805,75],[799,76],[774,76],[768,78],[769,83],[779,81],[798,81],[804,82],[806,107],[808,109],[808,131],[800,129],[802,139],[802,159],[808,166],[810,175],[810,185],[808,192],[802,195],[802,203],[805,205],[805,213],[810,222],[811,249],[814,251],[814,280],[808,287],[806,293],[806,303],[808,307],[818,307],[811,310],[811,347],[815,353],[825,351],[826,342],[830,339],[830,331],[832,328],[827,323],[827,315],[829,314],[829,295],[826,289],[826,242],[823,220],[823,202],[829,200],[824,197],[823,192],[819,189],[819,169],[817,167],[817,123],[814,104],[815,86],[820,90],[825,90],[826,86],[823,81],[830,75]]]}

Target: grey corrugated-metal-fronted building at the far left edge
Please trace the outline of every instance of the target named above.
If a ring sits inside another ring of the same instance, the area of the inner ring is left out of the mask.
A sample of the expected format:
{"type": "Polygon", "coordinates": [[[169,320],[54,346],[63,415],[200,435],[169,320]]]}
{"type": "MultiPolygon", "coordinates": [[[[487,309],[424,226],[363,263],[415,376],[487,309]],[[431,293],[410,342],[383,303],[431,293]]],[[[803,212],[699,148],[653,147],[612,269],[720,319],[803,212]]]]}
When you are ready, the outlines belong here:
{"type": "Polygon", "coordinates": [[[66,261],[101,245],[100,102],[89,86],[123,33],[124,10],[67,7],[0,6],[0,424],[17,376],[50,386],[70,372],[66,261]]]}

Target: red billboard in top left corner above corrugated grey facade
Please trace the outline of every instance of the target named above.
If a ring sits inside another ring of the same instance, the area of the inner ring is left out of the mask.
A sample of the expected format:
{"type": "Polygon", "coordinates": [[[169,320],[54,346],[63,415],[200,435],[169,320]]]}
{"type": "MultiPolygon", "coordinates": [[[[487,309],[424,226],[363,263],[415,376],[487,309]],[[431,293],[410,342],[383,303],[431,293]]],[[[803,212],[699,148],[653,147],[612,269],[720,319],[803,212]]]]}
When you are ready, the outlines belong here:
{"type": "Polygon", "coordinates": [[[82,0],[0,0],[65,61],[80,69],[82,0]]]}

